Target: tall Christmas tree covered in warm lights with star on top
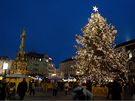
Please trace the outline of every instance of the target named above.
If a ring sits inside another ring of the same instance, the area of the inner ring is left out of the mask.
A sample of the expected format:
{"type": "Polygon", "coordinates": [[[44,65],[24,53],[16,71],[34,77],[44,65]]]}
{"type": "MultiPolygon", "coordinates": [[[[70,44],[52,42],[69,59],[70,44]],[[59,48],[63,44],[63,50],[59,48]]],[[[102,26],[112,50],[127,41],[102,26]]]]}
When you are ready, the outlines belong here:
{"type": "Polygon", "coordinates": [[[82,77],[103,81],[125,77],[128,55],[124,48],[115,48],[117,30],[93,7],[83,35],[76,35],[76,70],[82,77]]]}

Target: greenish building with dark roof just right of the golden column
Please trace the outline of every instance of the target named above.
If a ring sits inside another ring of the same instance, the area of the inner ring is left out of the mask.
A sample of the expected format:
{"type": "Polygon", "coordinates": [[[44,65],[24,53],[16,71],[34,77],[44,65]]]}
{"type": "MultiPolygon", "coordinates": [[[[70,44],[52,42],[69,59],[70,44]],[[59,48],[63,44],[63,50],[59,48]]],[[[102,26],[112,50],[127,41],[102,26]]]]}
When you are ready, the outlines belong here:
{"type": "Polygon", "coordinates": [[[29,52],[25,54],[27,60],[27,70],[30,74],[44,75],[49,77],[55,69],[52,59],[47,54],[29,52]],[[52,69],[53,68],[53,69],[52,69]]]}

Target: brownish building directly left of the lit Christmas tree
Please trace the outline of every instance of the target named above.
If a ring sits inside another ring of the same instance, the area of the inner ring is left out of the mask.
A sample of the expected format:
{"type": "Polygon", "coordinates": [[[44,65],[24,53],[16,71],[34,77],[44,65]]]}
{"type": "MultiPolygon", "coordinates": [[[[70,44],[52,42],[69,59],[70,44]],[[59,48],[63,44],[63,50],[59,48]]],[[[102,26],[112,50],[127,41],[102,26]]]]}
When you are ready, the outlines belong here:
{"type": "Polygon", "coordinates": [[[75,77],[76,70],[74,70],[73,65],[75,64],[75,60],[72,58],[66,59],[60,63],[59,71],[61,77],[75,77]]]}

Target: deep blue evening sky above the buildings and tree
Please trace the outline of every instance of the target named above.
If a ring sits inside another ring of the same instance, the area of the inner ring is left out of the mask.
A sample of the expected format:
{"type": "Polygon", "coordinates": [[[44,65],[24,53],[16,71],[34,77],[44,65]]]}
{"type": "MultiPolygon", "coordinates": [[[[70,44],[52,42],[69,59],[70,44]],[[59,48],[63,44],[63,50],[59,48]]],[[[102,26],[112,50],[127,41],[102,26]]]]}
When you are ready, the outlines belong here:
{"type": "Polygon", "coordinates": [[[118,30],[116,43],[135,38],[135,0],[0,0],[0,56],[15,58],[26,30],[25,52],[48,53],[58,64],[75,55],[75,34],[92,7],[118,30]]]}

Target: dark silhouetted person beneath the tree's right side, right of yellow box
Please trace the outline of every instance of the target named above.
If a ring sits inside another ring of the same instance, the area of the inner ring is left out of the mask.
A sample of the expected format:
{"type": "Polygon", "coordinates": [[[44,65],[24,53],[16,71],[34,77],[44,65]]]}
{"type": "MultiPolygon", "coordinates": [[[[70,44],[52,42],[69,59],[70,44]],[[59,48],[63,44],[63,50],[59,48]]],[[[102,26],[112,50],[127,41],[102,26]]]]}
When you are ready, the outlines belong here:
{"type": "Polygon", "coordinates": [[[113,84],[112,84],[112,100],[121,100],[121,93],[122,93],[122,86],[121,84],[114,80],[113,84]]]}

